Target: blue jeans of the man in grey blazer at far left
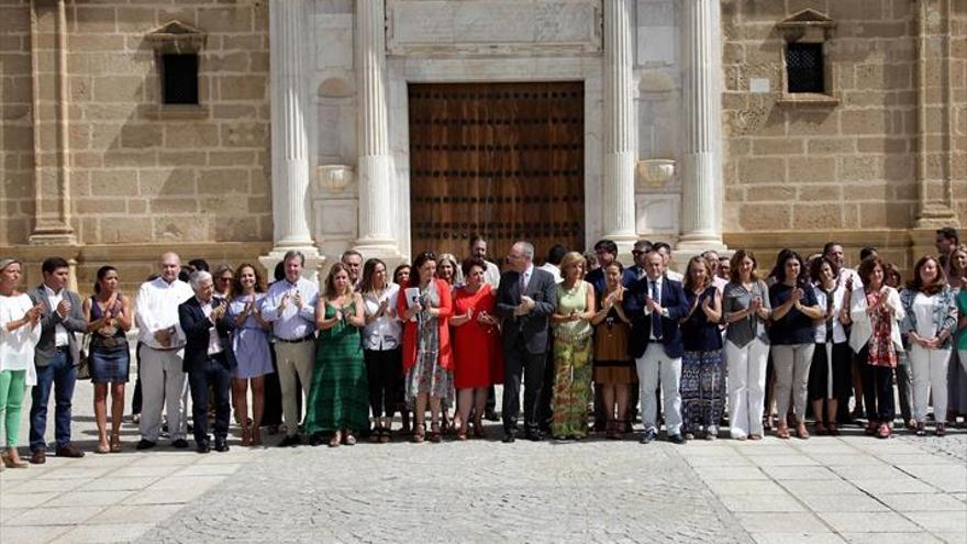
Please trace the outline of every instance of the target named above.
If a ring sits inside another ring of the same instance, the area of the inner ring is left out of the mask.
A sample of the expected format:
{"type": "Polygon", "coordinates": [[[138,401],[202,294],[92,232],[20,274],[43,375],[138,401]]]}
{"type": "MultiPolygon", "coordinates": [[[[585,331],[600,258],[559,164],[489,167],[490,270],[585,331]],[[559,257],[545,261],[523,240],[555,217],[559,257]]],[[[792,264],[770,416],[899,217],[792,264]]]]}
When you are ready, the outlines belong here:
{"type": "Polygon", "coordinates": [[[57,438],[57,447],[70,444],[70,401],[76,380],[74,357],[66,348],[58,351],[47,366],[37,367],[37,385],[31,390],[31,452],[47,447],[44,431],[47,430],[47,401],[51,400],[52,387],[56,404],[54,436],[57,438]]]}

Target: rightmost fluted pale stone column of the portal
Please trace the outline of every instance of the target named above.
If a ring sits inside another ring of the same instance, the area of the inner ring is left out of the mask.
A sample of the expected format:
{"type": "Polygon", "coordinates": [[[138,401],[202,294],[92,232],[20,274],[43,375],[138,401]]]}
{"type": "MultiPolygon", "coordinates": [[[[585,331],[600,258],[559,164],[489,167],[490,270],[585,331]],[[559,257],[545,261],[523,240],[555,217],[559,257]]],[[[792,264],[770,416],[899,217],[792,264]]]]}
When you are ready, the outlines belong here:
{"type": "Polygon", "coordinates": [[[722,49],[720,0],[686,0],[682,10],[681,237],[686,252],[723,249],[722,49]]]}

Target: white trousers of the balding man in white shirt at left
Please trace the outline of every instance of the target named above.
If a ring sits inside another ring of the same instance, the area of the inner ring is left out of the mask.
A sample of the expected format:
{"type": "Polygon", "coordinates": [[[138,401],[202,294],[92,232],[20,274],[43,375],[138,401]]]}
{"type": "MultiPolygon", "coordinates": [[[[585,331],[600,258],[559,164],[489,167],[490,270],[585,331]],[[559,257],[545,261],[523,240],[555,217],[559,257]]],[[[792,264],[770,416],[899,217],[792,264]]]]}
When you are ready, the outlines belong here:
{"type": "Polygon", "coordinates": [[[157,442],[162,433],[162,409],[168,412],[171,441],[184,440],[188,431],[188,375],[181,368],[185,349],[163,352],[144,344],[141,355],[141,437],[157,442]]]}

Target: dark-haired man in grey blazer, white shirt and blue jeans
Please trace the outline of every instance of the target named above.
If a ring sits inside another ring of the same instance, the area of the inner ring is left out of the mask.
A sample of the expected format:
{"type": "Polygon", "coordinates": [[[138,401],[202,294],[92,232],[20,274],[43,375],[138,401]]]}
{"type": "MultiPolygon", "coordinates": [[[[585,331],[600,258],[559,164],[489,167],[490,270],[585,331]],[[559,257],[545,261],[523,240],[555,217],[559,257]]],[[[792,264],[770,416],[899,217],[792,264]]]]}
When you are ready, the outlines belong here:
{"type": "Polygon", "coordinates": [[[84,452],[70,443],[70,406],[77,365],[80,364],[79,346],[74,333],[87,332],[80,296],[67,289],[70,266],[60,257],[51,257],[41,265],[44,282],[27,291],[34,304],[40,304],[41,340],[34,351],[37,384],[31,390],[30,448],[31,463],[42,465],[47,460],[47,402],[54,389],[56,404],[54,436],[58,457],[84,457],[84,452]]]}

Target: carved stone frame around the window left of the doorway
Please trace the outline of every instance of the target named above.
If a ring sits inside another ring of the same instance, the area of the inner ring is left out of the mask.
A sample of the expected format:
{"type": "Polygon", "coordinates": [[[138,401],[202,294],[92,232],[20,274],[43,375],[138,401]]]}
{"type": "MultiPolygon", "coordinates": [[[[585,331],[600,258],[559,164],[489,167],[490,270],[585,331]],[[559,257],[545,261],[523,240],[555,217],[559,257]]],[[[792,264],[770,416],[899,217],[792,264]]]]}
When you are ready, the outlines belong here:
{"type": "MultiPolygon", "coordinates": [[[[162,57],[167,54],[197,54],[200,56],[208,41],[208,34],[188,23],[171,20],[148,32],[145,35],[145,41],[155,52],[158,86],[164,87],[162,57]]],[[[159,88],[158,97],[163,96],[164,89],[159,88]]],[[[148,111],[148,116],[153,119],[208,119],[209,107],[200,102],[201,97],[199,96],[198,104],[158,103],[156,108],[148,111]]]]}

